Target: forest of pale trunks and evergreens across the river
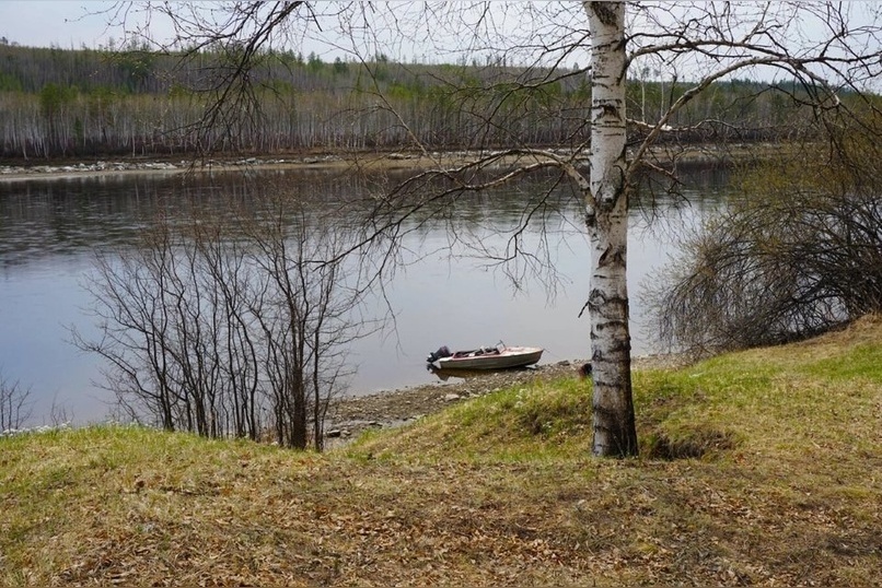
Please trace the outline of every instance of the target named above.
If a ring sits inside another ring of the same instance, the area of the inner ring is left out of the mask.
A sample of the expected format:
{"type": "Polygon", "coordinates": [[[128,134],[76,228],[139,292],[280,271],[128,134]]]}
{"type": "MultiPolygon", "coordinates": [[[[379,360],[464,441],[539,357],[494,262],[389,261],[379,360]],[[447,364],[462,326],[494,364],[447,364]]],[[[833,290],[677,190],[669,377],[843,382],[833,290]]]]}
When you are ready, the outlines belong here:
{"type": "MultiPolygon", "coordinates": [[[[4,160],[364,152],[417,144],[567,149],[583,145],[590,132],[590,90],[578,66],[552,75],[503,58],[420,64],[376,55],[370,61],[325,62],[315,54],[267,51],[233,103],[246,116],[206,125],[223,80],[236,67],[234,51],[169,55],[135,45],[60,49],[2,40],[4,160]]],[[[645,70],[628,83],[635,137],[640,121],[654,121],[693,85],[653,80],[651,73],[645,70]]],[[[792,140],[812,132],[812,111],[802,99],[811,92],[796,82],[774,87],[717,82],[677,111],[670,125],[678,131],[666,140],[792,140]]]]}

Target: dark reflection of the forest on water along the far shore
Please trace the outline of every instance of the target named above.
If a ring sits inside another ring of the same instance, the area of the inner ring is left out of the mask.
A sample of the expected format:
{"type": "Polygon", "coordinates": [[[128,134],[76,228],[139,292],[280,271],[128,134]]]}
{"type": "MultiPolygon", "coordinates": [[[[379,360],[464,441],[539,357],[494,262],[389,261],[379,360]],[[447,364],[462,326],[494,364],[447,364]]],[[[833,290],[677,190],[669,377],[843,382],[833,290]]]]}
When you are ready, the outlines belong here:
{"type": "MultiPolygon", "coordinates": [[[[262,170],[249,175],[98,176],[5,183],[0,184],[0,217],[4,220],[0,225],[0,256],[11,262],[45,255],[47,248],[51,252],[77,254],[96,246],[132,245],[139,230],[160,215],[173,224],[178,217],[206,213],[228,216],[232,231],[239,225],[235,211],[254,209],[267,193],[279,190],[301,200],[304,212],[314,221],[332,215],[337,223],[348,222],[352,231],[363,230],[363,221],[375,212],[374,196],[406,177],[402,172],[364,177],[262,170]]],[[[699,173],[695,180],[705,177],[699,173]]],[[[711,181],[716,185],[716,179],[711,181]]],[[[653,202],[660,202],[663,209],[674,203],[663,198],[654,198],[653,202]]],[[[642,204],[638,202],[639,205],[642,204]]],[[[450,233],[453,242],[465,243],[466,236],[511,236],[524,223],[530,233],[547,228],[575,235],[582,228],[581,216],[582,205],[569,187],[557,185],[552,175],[530,176],[507,187],[463,192],[444,205],[426,205],[405,219],[403,228],[416,240],[450,233]],[[547,227],[543,227],[544,222],[547,227]]],[[[292,214],[289,222],[298,222],[298,215],[292,214]]]]}

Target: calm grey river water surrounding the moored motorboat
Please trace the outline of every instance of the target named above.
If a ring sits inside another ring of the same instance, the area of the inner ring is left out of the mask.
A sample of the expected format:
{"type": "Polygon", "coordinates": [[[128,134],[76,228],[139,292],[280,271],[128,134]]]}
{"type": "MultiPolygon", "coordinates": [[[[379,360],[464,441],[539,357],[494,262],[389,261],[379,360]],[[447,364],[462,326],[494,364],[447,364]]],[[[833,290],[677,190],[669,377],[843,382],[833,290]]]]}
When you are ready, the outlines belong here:
{"type": "MultiPolygon", "coordinates": [[[[27,424],[84,424],[113,412],[114,397],[101,386],[106,366],[74,346],[70,334],[71,328],[98,334],[85,289],[95,251],[125,255],[158,214],[174,219],[194,207],[223,207],[230,193],[251,198],[264,178],[340,214],[350,213],[340,193],[376,189],[373,181],[295,170],[252,174],[247,181],[235,173],[0,181],[0,379],[30,390],[27,424]]],[[[683,190],[688,203],[660,197],[652,207],[633,207],[628,287],[636,355],[657,351],[639,299],[642,283],[676,252],[682,228],[719,205],[722,186],[717,175],[693,174],[683,190]]],[[[578,195],[545,177],[460,199],[453,224],[420,219],[404,237],[407,266],[375,301],[378,316],[391,308],[394,321],[349,350],[357,367],[349,393],[438,381],[425,357],[442,344],[538,345],[546,350],[541,363],[588,357],[588,317],[579,315],[590,250],[581,215],[578,195]],[[529,257],[499,266],[484,255],[511,252],[512,231],[522,223],[519,245],[547,255],[553,275],[535,275],[529,257]],[[451,232],[480,250],[460,242],[449,247],[451,232]]]]}

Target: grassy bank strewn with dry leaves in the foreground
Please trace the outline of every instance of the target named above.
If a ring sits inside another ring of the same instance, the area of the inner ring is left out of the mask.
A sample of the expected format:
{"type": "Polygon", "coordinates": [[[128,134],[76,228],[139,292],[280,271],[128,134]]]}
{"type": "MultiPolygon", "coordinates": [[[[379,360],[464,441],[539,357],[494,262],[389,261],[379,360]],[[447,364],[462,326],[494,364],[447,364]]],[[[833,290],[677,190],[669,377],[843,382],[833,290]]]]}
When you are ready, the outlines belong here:
{"type": "Polygon", "coordinates": [[[0,439],[0,584],[879,585],[882,319],[636,373],[639,459],[588,457],[587,387],[324,456],[121,427],[0,439]]]}

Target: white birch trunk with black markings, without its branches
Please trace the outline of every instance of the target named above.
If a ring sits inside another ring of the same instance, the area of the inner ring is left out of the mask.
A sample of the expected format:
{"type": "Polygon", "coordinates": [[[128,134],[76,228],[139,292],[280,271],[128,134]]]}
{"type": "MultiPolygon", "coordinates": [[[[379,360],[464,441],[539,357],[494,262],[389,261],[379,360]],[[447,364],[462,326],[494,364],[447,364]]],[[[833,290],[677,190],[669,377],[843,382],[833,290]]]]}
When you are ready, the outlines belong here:
{"type": "Polygon", "coordinates": [[[585,2],[591,26],[591,325],[595,456],[637,455],[628,331],[625,4],[585,2]]]}

